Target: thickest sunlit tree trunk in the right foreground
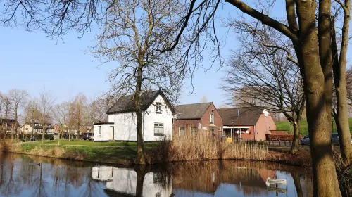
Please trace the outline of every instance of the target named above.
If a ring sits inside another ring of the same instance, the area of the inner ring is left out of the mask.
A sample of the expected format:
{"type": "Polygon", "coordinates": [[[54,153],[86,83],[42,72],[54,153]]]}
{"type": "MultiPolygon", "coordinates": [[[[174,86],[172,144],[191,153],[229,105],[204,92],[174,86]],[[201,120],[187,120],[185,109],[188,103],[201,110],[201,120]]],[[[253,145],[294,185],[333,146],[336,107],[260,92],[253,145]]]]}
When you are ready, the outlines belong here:
{"type": "MultiPolygon", "coordinates": [[[[313,170],[314,196],[341,196],[334,159],[331,131],[327,122],[325,77],[320,65],[314,0],[296,1],[299,21],[299,42],[302,54],[304,93],[310,136],[310,155],[313,170]]],[[[330,115],[330,113],[329,113],[330,115]]]]}

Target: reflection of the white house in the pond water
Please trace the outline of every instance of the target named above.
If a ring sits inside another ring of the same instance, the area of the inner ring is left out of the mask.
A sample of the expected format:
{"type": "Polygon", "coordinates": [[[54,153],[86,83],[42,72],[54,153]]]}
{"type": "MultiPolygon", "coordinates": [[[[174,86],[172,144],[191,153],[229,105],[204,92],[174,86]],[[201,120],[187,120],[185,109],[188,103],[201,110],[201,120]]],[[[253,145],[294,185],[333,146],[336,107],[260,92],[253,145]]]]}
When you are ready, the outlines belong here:
{"type": "Polygon", "coordinates": [[[106,182],[104,190],[108,196],[170,196],[172,186],[170,174],[146,172],[140,174],[131,168],[99,166],[92,168],[92,179],[106,182]]]}

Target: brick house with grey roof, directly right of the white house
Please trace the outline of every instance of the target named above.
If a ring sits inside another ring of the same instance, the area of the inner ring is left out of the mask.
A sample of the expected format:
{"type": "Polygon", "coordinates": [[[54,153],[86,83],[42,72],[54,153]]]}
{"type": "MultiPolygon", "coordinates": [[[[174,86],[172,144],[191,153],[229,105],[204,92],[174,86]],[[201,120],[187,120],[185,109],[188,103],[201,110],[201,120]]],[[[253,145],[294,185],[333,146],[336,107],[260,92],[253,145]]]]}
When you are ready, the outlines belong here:
{"type": "Polygon", "coordinates": [[[213,103],[175,106],[174,136],[191,136],[196,132],[222,134],[222,118],[213,103]]]}

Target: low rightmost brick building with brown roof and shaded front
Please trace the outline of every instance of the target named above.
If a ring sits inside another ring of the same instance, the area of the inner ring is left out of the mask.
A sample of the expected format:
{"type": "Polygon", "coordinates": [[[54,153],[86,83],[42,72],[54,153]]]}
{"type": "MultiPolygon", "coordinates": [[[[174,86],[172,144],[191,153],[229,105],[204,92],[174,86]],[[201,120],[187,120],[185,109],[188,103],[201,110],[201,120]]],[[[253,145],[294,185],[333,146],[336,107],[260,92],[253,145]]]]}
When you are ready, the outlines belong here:
{"type": "Polygon", "coordinates": [[[229,138],[265,140],[265,134],[276,130],[276,125],[268,110],[260,108],[220,108],[224,124],[224,134],[229,138]],[[239,111],[239,117],[238,117],[239,111]]]}

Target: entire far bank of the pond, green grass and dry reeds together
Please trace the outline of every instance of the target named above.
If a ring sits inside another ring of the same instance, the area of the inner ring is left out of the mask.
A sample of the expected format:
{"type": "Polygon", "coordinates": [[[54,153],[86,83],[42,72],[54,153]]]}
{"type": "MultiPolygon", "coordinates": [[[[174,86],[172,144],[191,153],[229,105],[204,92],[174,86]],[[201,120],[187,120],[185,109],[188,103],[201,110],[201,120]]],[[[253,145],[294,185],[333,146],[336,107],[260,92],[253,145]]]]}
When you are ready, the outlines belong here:
{"type": "MultiPolygon", "coordinates": [[[[290,156],[287,150],[270,148],[257,141],[241,141],[234,144],[213,141],[210,136],[175,138],[173,141],[145,143],[147,163],[165,163],[184,160],[262,160],[277,161],[292,165],[310,165],[309,151],[302,150],[298,157],[290,156]],[[302,156],[303,155],[303,156],[302,156]],[[308,155],[308,156],[307,156],[308,155]],[[298,158],[298,159],[297,159],[298,158]]],[[[13,143],[1,141],[1,151],[38,155],[68,160],[96,163],[133,164],[137,153],[135,142],[92,141],[34,141],[13,143]]],[[[304,149],[304,148],[303,148],[304,149]]]]}

